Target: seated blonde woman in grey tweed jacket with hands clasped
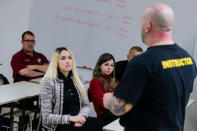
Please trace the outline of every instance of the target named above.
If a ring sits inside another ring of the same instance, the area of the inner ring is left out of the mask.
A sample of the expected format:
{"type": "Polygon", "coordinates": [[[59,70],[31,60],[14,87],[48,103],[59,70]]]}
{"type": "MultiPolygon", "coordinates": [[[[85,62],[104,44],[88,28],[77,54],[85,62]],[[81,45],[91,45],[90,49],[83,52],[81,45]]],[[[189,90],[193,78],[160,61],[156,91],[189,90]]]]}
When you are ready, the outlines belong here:
{"type": "Polygon", "coordinates": [[[91,130],[90,104],[69,49],[56,49],[42,83],[43,127],[50,131],[91,130]]]}

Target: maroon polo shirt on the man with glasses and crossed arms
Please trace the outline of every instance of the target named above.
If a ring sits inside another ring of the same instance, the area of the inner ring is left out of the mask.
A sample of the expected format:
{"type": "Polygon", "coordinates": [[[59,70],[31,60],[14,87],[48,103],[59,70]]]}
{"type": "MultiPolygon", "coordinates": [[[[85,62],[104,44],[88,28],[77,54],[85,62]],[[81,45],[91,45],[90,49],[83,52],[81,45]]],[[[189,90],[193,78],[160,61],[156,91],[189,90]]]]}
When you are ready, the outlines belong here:
{"type": "Polygon", "coordinates": [[[26,68],[27,65],[44,65],[48,63],[49,61],[47,60],[47,58],[41,53],[34,51],[33,56],[30,56],[27,55],[23,50],[17,52],[13,55],[11,60],[14,82],[29,81],[30,79],[38,78],[29,78],[19,75],[19,71],[23,68],[26,68]]]}

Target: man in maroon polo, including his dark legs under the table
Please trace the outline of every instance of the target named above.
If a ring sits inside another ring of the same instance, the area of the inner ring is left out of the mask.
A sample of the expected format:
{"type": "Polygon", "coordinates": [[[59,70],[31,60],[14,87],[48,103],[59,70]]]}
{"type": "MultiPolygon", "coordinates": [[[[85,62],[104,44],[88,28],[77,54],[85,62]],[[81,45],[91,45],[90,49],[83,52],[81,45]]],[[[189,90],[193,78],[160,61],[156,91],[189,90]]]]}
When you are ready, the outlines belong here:
{"type": "MultiPolygon", "coordinates": [[[[11,60],[11,66],[13,69],[14,82],[29,81],[34,78],[39,78],[44,75],[48,67],[47,58],[36,51],[35,36],[31,31],[26,31],[22,34],[22,49],[13,55],[11,60]]],[[[28,98],[20,100],[16,105],[18,108],[25,110],[38,110],[38,105],[34,105],[34,101],[38,103],[38,97],[28,98]]],[[[23,129],[25,122],[27,122],[29,116],[23,116],[19,118],[19,131],[23,129]]]]}

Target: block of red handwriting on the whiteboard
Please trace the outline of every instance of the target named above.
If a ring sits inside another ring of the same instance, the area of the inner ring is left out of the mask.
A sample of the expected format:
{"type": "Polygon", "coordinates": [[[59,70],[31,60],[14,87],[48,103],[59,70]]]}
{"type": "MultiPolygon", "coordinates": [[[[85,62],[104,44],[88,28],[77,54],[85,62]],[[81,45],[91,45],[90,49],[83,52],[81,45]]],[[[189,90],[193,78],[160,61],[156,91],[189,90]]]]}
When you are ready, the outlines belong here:
{"type": "MultiPolygon", "coordinates": [[[[65,26],[86,27],[87,29],[95,29],[98,31],[111,33],[122,39],[128,38],[128,25],[132,22],[132,17],[122,14],[128,6],[128,0],[94,0],[97,5],[113,6],[112,9],[120,10],[114,13],[100,10],[92,7],[83,7],[64,3],[66,0],[57,0],[56,8],[60,10],[59,14],[54,17],[55,21],[65,23],[65,26]],[[106,22],[103,22],[106,21],[106,22]]],[[[112,10],[113,11],[113,10],[112,10]]]]}

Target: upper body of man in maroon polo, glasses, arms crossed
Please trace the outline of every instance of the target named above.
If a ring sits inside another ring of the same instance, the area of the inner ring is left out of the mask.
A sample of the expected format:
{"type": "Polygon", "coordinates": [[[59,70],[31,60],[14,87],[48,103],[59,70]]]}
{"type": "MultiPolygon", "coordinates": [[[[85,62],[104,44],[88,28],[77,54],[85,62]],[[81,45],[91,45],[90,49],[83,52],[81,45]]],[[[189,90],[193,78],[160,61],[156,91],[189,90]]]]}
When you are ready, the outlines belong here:
{"type": "Polygon", "coordinates": [[[14,82],[42,77],[48,67],[47,58],[34,51],[34,38],[30,31],[22,34],[22,50],[14,54],[11,60],[14,82]]]}

